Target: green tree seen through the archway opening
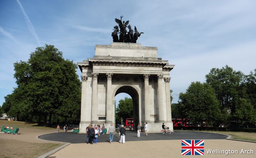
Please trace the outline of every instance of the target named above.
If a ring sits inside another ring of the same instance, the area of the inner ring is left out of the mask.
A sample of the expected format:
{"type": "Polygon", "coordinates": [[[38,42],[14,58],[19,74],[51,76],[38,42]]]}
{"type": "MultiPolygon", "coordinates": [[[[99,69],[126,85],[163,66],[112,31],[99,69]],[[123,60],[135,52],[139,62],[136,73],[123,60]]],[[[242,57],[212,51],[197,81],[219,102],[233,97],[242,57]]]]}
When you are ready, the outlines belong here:
{"type": "Polygon", "coordinates": [[[116,108],[116,115],[123,120],[133,118],[133,100],[132,98],[125,97],[120,99],[118,107],[116,108]]]}

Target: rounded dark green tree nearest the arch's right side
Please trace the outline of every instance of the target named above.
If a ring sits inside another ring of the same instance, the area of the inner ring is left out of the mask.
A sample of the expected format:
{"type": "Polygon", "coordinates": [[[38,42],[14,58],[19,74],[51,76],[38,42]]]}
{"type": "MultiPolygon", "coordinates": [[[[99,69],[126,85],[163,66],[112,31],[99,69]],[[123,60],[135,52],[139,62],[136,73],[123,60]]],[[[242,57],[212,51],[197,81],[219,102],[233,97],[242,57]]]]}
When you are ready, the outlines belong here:
{"type": "Polygon", "coordinates": [[[218,125],[221,113],[213,88],[207,83],[192,82],[186,93],[180,93],[180,110],[192,122],[218,125]]]}

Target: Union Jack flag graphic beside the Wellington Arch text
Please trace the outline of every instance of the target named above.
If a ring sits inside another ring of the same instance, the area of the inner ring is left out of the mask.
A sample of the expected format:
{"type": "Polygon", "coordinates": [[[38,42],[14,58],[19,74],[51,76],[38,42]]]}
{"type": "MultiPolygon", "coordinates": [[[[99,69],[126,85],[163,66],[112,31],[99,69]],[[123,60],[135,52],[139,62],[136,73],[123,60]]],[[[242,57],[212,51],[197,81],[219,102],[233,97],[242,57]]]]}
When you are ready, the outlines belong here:
{"type": "Polygon", "coordinates": [[[204,155],[204,140],[181,140],[181,155],[204,155]]]}

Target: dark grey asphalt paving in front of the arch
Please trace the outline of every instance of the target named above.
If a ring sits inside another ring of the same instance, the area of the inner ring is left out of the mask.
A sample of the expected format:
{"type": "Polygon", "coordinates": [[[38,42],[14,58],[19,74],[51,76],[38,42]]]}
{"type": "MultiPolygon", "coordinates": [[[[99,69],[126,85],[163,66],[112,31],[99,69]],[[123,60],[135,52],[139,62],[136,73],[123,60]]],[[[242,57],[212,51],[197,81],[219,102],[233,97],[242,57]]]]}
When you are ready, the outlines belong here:
{"type": "MultiPolygon", "coordinates": [[[[193,131],[174,131],[171,134],[152,133],[145,136],[141,133],[140,138],[137,137],[137,132],[126,131],[126,141],[149,141],[149,140],[185,140],[185,139],[225,139],[227,136],[222,134],[214,134],[207,132],[193,131]]],[[[69,143],[85,143],[86,134],[73,134],[72,132],[60,132],[39,136],[40,139],[58,142],[69,143]]],[[[114,135],[114,141],[119,141],[120,137],[117,132],[114,135]]],[[[97,142],[108,142],[108,135],[98,136],[97,142]]]]}

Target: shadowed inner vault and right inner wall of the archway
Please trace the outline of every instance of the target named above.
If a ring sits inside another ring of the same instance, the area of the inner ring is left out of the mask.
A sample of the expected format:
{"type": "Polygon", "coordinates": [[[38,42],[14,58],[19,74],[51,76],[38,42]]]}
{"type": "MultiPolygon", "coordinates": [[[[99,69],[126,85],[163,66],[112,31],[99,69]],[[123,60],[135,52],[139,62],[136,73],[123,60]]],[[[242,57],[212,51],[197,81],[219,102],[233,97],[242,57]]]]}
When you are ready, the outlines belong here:
{"type": "MultiPolygon", "coordinates": [[[[133,100],[133,130],[137,130],[137,125],[140,122],[140,115],[139,115],[139,103],[140,103],[140,97],[139,97],[139,90],[135,86],[129,86],[129,85],[120,85],[118,86],[114,91],[114,97],[119,93],[127,93],[132,97],[133,100]]],[[[125,121],[125,120],[124,120],[125,121]]]]}

